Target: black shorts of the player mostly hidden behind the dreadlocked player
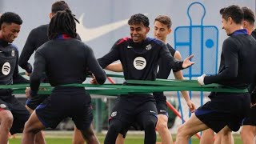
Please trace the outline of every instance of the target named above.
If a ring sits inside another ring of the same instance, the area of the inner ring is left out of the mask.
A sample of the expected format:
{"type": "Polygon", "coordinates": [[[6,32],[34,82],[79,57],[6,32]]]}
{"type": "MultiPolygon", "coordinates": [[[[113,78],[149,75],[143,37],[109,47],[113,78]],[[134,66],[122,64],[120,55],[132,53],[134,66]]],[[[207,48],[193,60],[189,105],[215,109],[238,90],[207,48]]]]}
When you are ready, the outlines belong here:
{"type": "Polygon", "coordinates": [[[27,98],[26,106],[34,110],[40,103],[42,103],[49,96],[50,96],[49,94],[38,94],[33,98],[27,98]]]}

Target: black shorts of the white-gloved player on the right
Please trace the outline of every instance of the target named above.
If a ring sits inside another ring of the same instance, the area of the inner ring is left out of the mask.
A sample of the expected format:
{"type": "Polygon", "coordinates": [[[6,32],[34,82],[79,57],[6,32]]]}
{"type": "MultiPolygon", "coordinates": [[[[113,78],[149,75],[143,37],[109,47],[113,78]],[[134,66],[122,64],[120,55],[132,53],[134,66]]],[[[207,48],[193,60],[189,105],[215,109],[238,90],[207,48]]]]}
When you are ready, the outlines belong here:
{"type": "Polygon", "coordinates": [[[197,118],[216,133],[225,126],[238,131],[250,110],[250,94],[211,93],[210,99],[194,112],[197,118]]]}

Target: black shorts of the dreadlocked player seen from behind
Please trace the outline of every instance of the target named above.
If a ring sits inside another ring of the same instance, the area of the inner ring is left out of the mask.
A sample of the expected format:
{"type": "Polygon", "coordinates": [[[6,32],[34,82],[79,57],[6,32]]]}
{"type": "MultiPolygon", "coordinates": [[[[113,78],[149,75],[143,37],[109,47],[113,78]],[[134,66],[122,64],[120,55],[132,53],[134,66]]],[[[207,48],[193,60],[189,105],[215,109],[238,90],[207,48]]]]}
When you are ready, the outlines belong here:
{"type": "Polygon", "coordinates": [[[78,130],[87,130],[93,120],[90,95],[82,87],[56,87],[35,112],[45,127],[55,128],[70,117],[78,130]]]}

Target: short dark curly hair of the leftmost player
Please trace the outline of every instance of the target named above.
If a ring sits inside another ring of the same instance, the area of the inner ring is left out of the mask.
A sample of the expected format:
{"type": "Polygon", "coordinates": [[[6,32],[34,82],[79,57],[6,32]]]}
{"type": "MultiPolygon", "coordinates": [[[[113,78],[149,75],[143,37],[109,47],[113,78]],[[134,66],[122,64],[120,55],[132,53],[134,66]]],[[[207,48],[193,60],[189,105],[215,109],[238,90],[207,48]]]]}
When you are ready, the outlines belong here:
{"type": "Polygon", "coordinates": [[[0,30],[1,30],[2,23],[8,23],[8,24],[15,23],[18,25],[22,25],[22,18],[18,14],[15,14],[13,12],[6,12],[2,14],[0,18],[0,30]]]}

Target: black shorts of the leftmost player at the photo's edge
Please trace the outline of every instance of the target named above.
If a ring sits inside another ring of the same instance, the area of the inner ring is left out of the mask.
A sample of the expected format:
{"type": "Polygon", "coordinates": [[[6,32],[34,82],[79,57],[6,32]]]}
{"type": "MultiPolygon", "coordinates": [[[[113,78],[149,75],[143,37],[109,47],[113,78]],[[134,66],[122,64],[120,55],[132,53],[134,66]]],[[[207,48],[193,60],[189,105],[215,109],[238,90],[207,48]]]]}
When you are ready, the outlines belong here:
{"type": "Polygon", "coordinates": [[[13,114],[14,122],[10,128],[10,134],[22,133],[25,122],[30,118],[30,112],[26,110],[26,107],[10,94],[0,96],[0,110],[10,110],[13,114]]]}

